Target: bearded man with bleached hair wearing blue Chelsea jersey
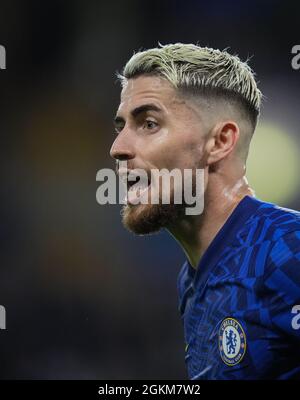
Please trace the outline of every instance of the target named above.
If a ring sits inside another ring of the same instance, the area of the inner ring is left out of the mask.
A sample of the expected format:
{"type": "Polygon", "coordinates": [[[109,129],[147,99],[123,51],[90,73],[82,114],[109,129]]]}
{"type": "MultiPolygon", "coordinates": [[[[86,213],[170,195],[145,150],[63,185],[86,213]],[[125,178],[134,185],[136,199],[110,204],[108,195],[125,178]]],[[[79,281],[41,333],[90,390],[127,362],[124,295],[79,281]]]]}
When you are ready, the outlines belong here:
{"type": "Polygon", "coordinates": [[[256,199],[245,178],[262,98],[250,67],[177,43],[134,54],[119,78],[120,174],[145,170],[149,195],[152,169],[204,171],[201,214],[174,201],[128,202],[122,213],[134,233],[166,228],[186,254],[178,291],[189,378],[300,378],[300,214],[256,199]]]}

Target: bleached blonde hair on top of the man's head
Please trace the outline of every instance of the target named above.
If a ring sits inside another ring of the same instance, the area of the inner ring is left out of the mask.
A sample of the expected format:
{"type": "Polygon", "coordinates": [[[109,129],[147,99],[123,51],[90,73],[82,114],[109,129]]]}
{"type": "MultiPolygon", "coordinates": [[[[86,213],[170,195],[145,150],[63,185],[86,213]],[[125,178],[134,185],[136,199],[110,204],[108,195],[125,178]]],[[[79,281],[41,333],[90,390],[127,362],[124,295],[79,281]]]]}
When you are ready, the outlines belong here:
{"type": "Polygon", "coordinates": [[[175,43],[135,53],[117,74],[122,86],[139,75],[159,75],[176,89],[193,94],[225,96],[227,100],[243,103],[256,124],[260,113],[262,93],[255,74],[236,55],[226,50],[175,43]]]}

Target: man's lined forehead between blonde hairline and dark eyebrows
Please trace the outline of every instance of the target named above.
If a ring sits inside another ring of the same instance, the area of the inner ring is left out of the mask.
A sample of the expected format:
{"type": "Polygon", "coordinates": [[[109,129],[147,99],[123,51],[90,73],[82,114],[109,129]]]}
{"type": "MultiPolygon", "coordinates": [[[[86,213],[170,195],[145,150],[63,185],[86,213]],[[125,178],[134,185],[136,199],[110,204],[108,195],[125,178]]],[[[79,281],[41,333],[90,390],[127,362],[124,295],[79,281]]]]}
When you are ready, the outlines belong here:
{"type": "Polygon", "coordinates": [[[157,76],[139,76],[129,79],[121,92],[119,112],[130,112],[131,109],[144,103],[157,104],[168,112],[182,103],[172,85],[164,78],[157,76]]]}

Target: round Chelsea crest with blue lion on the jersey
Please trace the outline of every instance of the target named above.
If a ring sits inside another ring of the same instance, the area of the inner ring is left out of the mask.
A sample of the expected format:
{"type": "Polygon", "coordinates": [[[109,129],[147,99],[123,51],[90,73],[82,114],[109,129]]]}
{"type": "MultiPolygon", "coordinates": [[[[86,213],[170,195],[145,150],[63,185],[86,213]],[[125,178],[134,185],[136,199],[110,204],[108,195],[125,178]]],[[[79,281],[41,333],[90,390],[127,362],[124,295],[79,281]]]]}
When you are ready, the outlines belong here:
{"type": "Polygon", "coordinates": [[[219,329],[219,350],[225,364],[233,366],[242,361],[246,352],[246,335],[234,318],[225,318],[219,329]]]}

